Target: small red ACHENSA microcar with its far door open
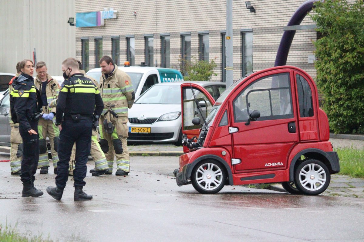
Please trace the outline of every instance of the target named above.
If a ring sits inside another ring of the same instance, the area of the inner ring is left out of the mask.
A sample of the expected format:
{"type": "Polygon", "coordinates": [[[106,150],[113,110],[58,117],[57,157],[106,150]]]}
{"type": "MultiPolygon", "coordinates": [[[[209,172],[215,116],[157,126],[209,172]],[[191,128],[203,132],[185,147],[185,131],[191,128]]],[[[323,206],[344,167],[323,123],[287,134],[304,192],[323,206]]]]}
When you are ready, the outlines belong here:
{"type": "Polygon", "coordinates": [[[277,66],[234,82],[215,102],[202,87],[181,85],[185,154],[177,185],[200,193],[224,185],[281,182],[290,193],[317,195],[340,171],[327,115],[313,79],[277,66]]]}

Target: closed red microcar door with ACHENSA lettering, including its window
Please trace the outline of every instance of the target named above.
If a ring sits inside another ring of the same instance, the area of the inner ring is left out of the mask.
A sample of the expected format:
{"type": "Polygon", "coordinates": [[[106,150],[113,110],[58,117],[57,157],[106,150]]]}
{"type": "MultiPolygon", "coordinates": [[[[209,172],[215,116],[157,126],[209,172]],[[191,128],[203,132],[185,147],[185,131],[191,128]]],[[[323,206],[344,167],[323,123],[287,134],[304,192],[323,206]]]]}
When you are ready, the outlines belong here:
{"type": "MultiPolygon", "coordinates": [[[[298,142],[293,71],[280,69],[247,81],[229,99],[234,172],[287,168],[290,149],[298,142]],[[253,110],[260,118],[248,122],[253,110]],[[235,128],[235,129],[234,129],[235,128]]],[[[273,178],[274,173],[269,174],[273,178]]],[[[257,177],[255,179],[262,179],[257,177]]],[[[255,180],[254,179],[254,180],[255,180]]]]}

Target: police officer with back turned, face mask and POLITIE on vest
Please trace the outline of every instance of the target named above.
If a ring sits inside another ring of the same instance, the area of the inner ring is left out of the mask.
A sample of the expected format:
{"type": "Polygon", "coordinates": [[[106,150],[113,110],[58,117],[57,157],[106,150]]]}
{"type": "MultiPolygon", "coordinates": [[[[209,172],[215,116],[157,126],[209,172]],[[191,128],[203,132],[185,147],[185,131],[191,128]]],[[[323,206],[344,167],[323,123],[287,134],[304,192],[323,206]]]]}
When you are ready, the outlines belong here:
{"type": "Polygon", "coordinates": [[[47,193],[54,199],[61,200],[68,180],[68,161],[71,157],[72,146],[76,142],[74,200],[91,200],[92,196],[82,190],[86,184],[83,179],[86,177],[86,163],[90,154],[93,115],[100,116],[104,104],[98,87],[79,73],[76,59],[64,60],[62,70],[65,81],[58,95],[55,123],[60,130],[56,187],[48,186],[47,193]]]}

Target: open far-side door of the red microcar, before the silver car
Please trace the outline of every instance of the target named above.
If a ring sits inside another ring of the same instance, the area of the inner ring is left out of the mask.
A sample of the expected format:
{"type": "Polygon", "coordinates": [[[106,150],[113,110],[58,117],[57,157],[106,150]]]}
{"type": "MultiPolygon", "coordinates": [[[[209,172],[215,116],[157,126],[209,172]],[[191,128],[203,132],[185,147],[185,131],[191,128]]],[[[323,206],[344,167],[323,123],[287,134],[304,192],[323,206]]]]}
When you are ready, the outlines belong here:
{"type": "MultiPolygon", "coordinates": [[[[192,123],[192,119],[199,117],[201,119],[201,123],[203,123],[203,118],[206,119],[207,115],[209,115],[212,106],[215,104],[215,100],[203,87],[187,82],[181,84],[181,98],[182,134],[187,135],[187,138],[189,139],[191,139],[193,136],[198,137],[199,130],[202,128],[202,124],[194,125],[192,123]],[[194,94],[202,108],[202,113],[197,108],[192,90],[194,91],[194,94]]],[[[188,152],[188,148],[184,146],[183,151],[188,152]]]]}

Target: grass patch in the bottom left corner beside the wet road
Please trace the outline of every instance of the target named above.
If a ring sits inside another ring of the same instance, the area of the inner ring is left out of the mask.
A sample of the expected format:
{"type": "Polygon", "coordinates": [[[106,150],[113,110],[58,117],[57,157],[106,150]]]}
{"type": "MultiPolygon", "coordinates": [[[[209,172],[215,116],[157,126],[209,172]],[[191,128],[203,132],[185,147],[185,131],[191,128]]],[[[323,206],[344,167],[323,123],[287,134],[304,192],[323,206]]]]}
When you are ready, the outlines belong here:
{"type": "Polygon", "coordinates": [[[50,239],[43,239],[41,235],[35,236],[29,234],[20,234],[15,227],[0,224],[0,241],[1,242],[52,242],[50,239]]]}

